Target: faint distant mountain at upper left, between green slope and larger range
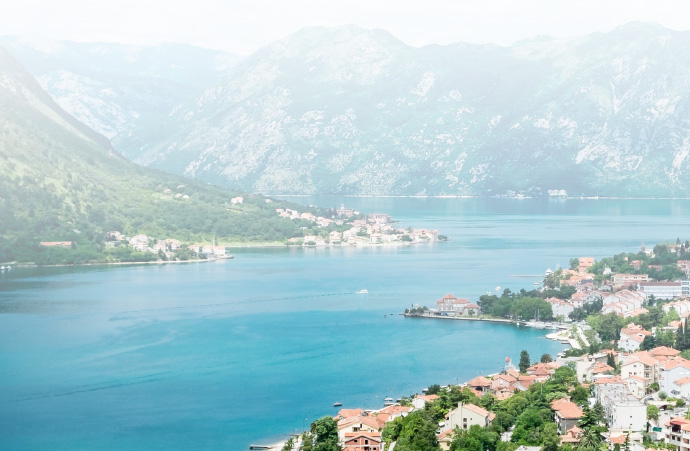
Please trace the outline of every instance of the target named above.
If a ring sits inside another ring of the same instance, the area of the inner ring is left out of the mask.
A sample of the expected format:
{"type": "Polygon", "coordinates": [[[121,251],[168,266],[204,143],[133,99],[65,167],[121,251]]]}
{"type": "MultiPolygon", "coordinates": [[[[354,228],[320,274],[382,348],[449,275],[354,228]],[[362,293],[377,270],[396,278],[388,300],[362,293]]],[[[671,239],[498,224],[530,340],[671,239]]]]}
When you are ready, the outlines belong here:
{"type": "Polygon", "coordinates": [[[109,138],[121,152],[156,138],[177,105],[200,96],[237,60],[181,44],[132,46],[32,41],[3,44],[65,111],[109,138]]]}

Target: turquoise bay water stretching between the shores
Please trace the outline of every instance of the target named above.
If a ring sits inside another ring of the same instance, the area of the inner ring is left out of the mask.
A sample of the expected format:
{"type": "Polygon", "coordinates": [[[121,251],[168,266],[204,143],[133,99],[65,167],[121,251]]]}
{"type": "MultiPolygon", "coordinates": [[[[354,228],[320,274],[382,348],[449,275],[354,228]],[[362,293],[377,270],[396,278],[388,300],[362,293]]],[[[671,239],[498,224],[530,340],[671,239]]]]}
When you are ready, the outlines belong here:
{"type": "Polygon", "coordinates": [[[247,449],[561,345],[512,325],[404,319],[445,293],[533,286],[574,256],[690,238],[688,201],[299,198],[448,243],[246,249],[205,264],[0,276],[0,448],[247,449]],[[366,288],[367,295],[355,294],[366,288]]]}

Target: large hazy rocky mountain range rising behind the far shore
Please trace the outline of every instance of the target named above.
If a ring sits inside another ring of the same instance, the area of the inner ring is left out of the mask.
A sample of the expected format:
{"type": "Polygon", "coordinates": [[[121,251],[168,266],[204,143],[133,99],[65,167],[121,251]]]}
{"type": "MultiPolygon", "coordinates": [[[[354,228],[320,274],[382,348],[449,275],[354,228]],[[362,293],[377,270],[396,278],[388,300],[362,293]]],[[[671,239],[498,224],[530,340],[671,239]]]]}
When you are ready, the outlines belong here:
{"type": "MultiPolygon", "coordinates": [[[[244,58],[206,54],[207,76],[166,91],[156,114],[134,126],[135,114],[120,113],[143,111],[139,94],[115,114],[103,91],[56,75],[64,56],[47,55],[52,69],[29,69],[80,120],[125,124],[110,126],[118,151],[216,185],[271,194],[690,195],[690,33],[655,24],[509,47],[421,48],[383,30],[312,27],[244,58]]],[[[108,73],[92,74],[99,89],[108,73]]]]}

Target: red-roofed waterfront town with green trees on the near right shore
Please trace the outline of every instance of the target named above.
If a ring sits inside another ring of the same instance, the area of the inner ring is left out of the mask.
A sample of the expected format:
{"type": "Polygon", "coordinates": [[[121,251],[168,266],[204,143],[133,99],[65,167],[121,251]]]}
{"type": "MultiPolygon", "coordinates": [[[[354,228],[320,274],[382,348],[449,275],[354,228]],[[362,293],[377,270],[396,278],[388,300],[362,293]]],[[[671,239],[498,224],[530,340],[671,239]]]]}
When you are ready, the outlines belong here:
{"type": "Polygon", "coordinates": [[[412,305],[405,316],[551,329],[547,338],[569,348],[537,359],[525,350],[517,366],[506,358],[494,374],[386,398],[382,408],[343,408],[275,448],[690,451],[689,250],[680,240],[643,245],[573,259],[533,291],[412,305]]]}

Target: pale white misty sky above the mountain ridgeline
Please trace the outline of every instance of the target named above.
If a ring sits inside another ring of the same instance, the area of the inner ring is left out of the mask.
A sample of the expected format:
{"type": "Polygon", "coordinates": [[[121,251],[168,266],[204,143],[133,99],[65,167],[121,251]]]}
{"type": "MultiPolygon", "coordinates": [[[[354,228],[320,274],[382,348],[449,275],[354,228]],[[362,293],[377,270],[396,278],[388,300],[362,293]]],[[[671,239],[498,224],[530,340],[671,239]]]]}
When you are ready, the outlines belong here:
{"type": "Polygon", "coordinates": [[[249,54],[305,26],[383,28],[407,44],[510,45],[631,22],[690,30],[686,0],[22,0],[3,6],[1,34],[128,44],[183,42],[249,54]]]}

